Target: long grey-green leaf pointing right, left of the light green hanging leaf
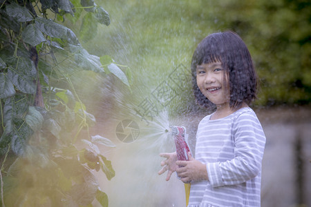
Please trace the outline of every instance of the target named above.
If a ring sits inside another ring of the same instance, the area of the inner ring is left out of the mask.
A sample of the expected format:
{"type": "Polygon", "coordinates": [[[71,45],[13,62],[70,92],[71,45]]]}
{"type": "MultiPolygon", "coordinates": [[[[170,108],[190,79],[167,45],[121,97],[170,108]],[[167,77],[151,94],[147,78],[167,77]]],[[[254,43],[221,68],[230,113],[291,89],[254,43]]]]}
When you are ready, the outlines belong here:
{"type": "Polygon", "coordinates": [[[44,34],[47,34],[50,37],[60,38],[60,39],[67,39],[69,43],[78,44],[79,41],[75,36],[75,33],[62,26],[59,23],[51,21],[49,19],[44,19],[41,17],[37,17],[35,19],[35,26],[44,34]]]}

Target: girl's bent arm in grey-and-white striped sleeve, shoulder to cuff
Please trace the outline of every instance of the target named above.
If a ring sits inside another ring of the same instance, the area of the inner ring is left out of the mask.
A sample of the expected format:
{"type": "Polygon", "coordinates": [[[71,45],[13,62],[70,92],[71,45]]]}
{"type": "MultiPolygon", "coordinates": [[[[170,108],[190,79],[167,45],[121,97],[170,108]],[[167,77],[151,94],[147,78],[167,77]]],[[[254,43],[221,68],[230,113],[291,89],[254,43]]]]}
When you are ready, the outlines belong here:
{"type": "Polygon", "coordinates": [[[234,120],[232,136],[234,159],[207,164],[213,187],[241,184],[261,172],[265,134],[256,115],[243,113],[234,120]]]}

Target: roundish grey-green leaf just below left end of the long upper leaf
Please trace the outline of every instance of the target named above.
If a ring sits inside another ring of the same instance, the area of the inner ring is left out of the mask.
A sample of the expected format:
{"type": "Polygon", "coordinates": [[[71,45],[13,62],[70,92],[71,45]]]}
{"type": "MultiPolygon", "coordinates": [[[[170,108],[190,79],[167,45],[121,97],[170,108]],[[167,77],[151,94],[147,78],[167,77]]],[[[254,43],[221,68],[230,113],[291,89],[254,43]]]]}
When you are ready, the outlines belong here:
{"type": "Polygon", "coordinates": [[[35,24],[28,25],[25,30],[21,33],[21,37],[23,37],[23,41],[30,44],[31,46],[37,46],[37,44],[46,41],[46,38],[42,34],[42,32],[35,27],[35,24]]]}

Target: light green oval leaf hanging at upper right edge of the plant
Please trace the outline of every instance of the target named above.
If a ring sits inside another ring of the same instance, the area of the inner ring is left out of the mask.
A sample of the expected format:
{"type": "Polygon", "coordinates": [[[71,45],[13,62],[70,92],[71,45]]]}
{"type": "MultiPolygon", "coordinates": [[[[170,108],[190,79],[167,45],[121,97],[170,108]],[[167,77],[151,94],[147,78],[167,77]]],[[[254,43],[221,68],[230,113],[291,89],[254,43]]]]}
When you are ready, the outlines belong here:
{"type": "Polygon", "coordinates": [[[89,12],[82,19],[80,39],[85,42],[93,39],[97,34],[97,21],[94,16],[93,13],[89,12]]]}

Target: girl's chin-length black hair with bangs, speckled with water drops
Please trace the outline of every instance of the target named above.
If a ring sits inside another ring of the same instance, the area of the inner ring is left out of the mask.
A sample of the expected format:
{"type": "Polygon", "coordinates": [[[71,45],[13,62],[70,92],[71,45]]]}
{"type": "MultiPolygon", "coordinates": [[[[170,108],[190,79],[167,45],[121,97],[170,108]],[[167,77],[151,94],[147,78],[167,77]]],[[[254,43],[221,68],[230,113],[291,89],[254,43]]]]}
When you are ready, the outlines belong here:
{"type": "Polygon", "coordinates": [[[216,61],[220,61],[225,70],[224,83],[229,76],[229,106],[240,108],[243,102],[252,103],[256,99],[258,88],[257,74],[247,46],[241,37],[232,31],[209,34],[194,51],[191,73],[196,103],[205,108],[215,108],[214,103],[211,103],[198,88],[196,67],[216,61]]]}

